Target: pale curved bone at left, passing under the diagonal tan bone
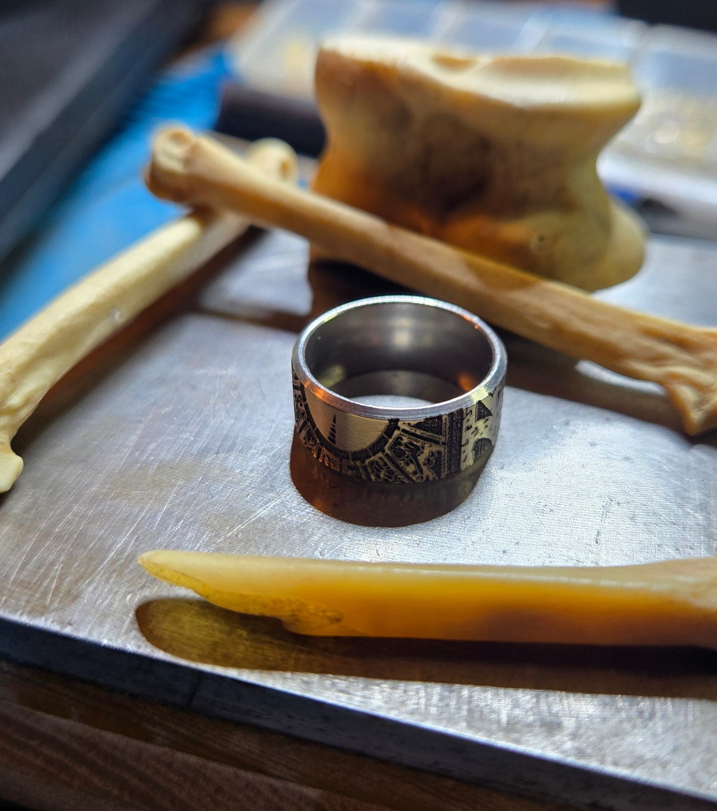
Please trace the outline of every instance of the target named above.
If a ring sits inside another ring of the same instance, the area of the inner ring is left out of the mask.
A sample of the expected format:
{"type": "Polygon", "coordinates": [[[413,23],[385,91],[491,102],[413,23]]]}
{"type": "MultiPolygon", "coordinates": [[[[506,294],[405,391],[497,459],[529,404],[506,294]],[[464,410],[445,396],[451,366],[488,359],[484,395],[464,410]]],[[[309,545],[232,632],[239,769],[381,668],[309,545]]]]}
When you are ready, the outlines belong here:
{"type": "MultiPolygon", "coordinates": [[[[259,174],[296,178],[296,156],[281,141],[258,142],[249,162],[259,174]]],[[[216,212],[171,222],[102,264],[0,345],[0,492],[23,470],[11,440],[49,388],[247,225],[216,212]]]]}

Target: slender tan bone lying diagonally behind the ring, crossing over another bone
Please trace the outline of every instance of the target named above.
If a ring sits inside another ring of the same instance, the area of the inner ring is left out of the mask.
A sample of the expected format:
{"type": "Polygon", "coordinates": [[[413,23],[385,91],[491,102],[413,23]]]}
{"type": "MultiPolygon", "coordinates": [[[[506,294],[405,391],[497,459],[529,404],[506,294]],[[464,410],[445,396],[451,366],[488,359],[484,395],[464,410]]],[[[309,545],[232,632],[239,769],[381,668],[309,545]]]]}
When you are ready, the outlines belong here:
{"type": "Polygon", "coordinates": [[[615,307],[335,200],[282,186],[187,130],[157,136],[147,181],[160,197],[229,208],[294,231],[333,256],[466,307],[573,358],[659,383],[689,434],[717,427],[717,329],[615,307]]]}

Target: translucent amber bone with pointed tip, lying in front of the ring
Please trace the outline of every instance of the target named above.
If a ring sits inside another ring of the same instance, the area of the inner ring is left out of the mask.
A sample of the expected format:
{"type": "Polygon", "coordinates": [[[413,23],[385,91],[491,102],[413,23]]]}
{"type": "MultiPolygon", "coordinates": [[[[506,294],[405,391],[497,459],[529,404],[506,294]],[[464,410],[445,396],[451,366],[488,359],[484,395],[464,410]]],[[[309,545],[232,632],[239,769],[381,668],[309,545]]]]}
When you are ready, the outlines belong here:
{"type": "Polygon", "coordinates": [[[312,636],[717,648],[717,558],[558,568],[150,551],[140,564],[312,636]]]}

